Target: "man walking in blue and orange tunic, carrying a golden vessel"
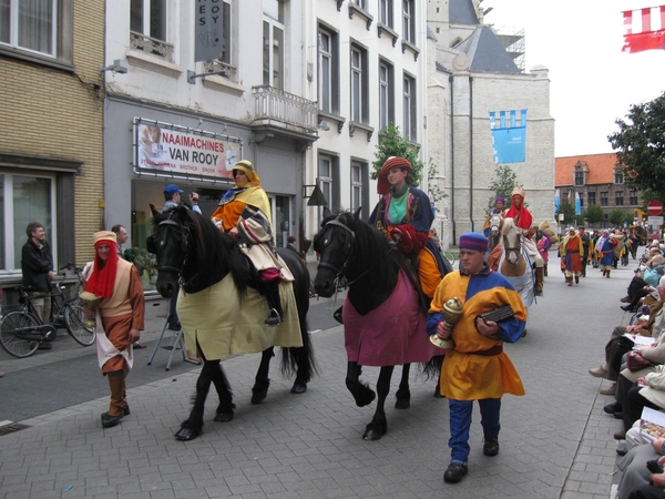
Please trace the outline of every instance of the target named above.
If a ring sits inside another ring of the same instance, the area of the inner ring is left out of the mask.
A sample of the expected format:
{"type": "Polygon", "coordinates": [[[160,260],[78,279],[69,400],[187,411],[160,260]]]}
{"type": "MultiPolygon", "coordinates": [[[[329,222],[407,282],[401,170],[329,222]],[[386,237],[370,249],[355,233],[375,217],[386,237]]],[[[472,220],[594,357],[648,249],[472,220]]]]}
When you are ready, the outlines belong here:
{"type": "Polygon", "coordinates": [[[469,429],[473,400],[478,400],[484,432],[483,454],[499,454],[501,397],[524,395],[516,369],[503,353],[503,342],[514,343],[524,332],[526,310],[520,294],[505,277],[490,269],[484,262],[488,238],[466,233],[460,237],[460,269],[448,273],[434,293],[429,310],[427,332],[440,338],[452,337],[454,348],[448,348],[441,366],[441,395],[449,400],[450,466],[443,479],[460,481],[467,475],[469,429]],[[454,326],[443,320],[443,306],[454,297],[463,301],[462,314],[454,326]],[[509,305],[514,316],[484,322],[480,314],[509,305]]]}

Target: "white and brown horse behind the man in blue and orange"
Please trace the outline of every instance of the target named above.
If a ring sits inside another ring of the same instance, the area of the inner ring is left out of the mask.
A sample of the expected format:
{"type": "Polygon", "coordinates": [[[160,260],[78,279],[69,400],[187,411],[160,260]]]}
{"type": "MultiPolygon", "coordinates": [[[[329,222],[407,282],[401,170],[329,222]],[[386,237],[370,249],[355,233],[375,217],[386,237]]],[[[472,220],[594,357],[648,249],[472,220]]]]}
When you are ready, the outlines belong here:
{"type": "Polygon", "coordinates": [[[530,307],[534,299],[535,276],[533,262],[522,243],[522,234],[512,218],[503,221],[503,253],[499,261],[498,272],[504,276],[516,289],[525,307],[530,307]]]}

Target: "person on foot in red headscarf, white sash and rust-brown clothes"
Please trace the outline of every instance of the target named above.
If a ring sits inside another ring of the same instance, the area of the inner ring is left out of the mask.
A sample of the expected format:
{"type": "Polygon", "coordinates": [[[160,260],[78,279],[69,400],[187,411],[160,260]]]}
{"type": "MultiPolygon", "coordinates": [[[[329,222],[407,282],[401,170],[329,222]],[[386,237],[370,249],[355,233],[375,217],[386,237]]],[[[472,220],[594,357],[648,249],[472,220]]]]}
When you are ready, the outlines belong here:
{"type": "Polygon", "coordinates": [[[92,236],[94,262],[85,268],[85,291],[103,299],[96,307],[96,350],[102,374],[109,378],[111,404],[102,414],[102,427],[117,425],[130,414],[125,378],[134,363],[132,344],[143,329],[145,298],[139,271],[119,258],[115,234],[96,232],[92,236]]]}

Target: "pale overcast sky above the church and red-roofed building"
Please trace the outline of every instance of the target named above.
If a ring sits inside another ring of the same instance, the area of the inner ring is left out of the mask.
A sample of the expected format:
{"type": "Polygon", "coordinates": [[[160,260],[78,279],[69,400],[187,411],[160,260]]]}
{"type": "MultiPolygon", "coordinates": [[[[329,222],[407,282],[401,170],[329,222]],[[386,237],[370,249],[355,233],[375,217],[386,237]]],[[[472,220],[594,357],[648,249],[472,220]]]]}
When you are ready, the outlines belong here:
{"type": "MultiPolygon", "coordinates": [[[[632,104],[665,91],[665,50],[622,52],[622,11],[665,0],[484,0],[485,23],[524,29],[526,72],[550,71],[550,113],[555,155],[613,152],[616,132],[632,104]]],[[[500,30],[501,31],[501,30],[500,30]]],[[[529,133],[529,130],[526,130],[529,133]]]]}

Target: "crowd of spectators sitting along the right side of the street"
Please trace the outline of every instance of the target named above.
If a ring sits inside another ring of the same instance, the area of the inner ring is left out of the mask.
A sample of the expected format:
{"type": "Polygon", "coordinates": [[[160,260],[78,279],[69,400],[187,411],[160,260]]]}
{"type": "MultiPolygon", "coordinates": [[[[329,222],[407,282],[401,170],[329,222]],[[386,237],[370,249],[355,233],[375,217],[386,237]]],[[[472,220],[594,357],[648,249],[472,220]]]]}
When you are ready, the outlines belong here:
{"type": "Polygon", "coordinates": [[[625,304],[621,308],[631,314],[628,325],[612,330],[604,361],[589,369],[592,376],[611,381],[600,391],[614,397],[604,411],[622,424],[614,434],[618,441],[616,451],[623,456],[617,464],[622,472],[615,492],[618,499],[665,495],[665,428],[659,434],[657,425],[663,421],[643,418],[644,414],[653,414],[643,413],[645,408],[657,411],[656,415],[665,411],[665,245],[654,235],[637,259],[640,243],[635,233],[604,231],[596,240],[593,262],[605,277],[630,258],[636,263],[626,295],[620,299],[625,304]]]}

